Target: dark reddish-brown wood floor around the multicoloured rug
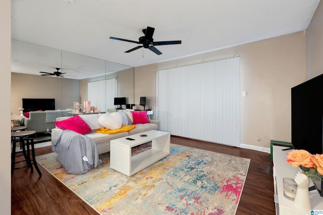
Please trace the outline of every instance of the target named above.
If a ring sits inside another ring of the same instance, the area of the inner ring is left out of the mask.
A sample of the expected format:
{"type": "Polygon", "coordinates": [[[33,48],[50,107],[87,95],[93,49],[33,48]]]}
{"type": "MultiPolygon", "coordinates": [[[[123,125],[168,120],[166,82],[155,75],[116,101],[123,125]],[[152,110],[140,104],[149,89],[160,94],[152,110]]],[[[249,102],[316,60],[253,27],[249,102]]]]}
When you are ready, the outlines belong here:
{"type": "MultiPolygon", "coordinates": [[[[251,159],[236,214],[275,214],[270,154],[176,136],[171,137],[171,142],[251,159]]],[[[39,148],[35,153],[36,156],[48,154],[51,148],[39,148]]],[[[39,168],[41,178],[36,171],[31,172],[28,168],[15,170],[11,183],[11,214],[98,214],[45,169],[39,168]]]]}

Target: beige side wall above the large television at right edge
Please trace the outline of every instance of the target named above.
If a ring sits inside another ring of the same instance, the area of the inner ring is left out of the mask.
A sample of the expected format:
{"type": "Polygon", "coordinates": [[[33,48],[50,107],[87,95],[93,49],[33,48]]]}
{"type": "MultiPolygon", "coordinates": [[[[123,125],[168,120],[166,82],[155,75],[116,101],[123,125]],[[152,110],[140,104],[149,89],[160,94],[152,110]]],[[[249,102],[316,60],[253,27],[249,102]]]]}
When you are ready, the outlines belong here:
{"type": "Polygon", "coordinates": [[[323,3],[320,2],[306,30],[307,80],[323,74],[323,3]]]}

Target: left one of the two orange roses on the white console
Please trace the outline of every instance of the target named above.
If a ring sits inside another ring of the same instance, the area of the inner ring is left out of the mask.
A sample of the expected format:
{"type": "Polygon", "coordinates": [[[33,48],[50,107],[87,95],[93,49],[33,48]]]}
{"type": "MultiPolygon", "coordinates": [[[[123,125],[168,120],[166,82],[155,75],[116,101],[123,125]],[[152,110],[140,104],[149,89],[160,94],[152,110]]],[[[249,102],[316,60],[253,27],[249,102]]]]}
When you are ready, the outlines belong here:
{"type": "Polygon", "coordinates": [[[312,155],[305,150],[294,150],[287,153],[287,163],[291,164],[292,167],[303,166],[307,168],[315,168],[312,161],[312,155]]]}

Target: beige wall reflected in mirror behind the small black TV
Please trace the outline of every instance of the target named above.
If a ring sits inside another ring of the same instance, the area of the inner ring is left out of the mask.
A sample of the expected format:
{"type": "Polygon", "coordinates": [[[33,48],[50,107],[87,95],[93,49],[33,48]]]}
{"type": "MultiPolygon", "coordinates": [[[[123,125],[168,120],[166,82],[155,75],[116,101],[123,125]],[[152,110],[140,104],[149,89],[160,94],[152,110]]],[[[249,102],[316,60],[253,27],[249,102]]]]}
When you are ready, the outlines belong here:
{"type": "Polygon", "coordinates": [[[80,100],[80,81],[66,78],[11,74],[11,112],[20,114],[22,98],[55,99],[56,109],[73,107],[80,100]]]}

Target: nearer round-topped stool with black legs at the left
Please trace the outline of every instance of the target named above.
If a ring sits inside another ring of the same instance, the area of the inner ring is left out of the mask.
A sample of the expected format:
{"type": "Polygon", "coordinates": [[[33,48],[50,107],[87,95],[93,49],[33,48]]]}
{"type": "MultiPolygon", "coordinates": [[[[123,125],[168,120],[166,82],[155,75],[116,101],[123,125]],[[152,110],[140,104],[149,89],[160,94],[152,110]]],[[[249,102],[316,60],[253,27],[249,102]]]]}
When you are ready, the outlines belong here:
{"type": "Polygon", "coordinates": [[[34,130],[22,130],[17,132],[11,132],[11,141],[12,141],[12,155],[11,155],[11,178],[14,175],[14,170],[22,169],[26,167],[30,167],[30,170],[33,171],[32,165],[35,166],[35,169],[37,170],[39,177],[41,177],[41,172],[37,166],[36,159],[35,159],[35,149],[34,149],[34,138],[31,137],[36,133],[34,130]],[[25,160],[16,162],[16,143],[20,142],[20,146],[22,147],[23,155],[25,157],[25,160]],[[29,145],[31,146],[31,155],[30,158],[30,150],[29,145]],[[27,150],[26,150],[27,147],[27,150]],[[27,162],[26,166],[23,167],[17,167],[15,168],[16,163],[20,162],[27,162]]]}

